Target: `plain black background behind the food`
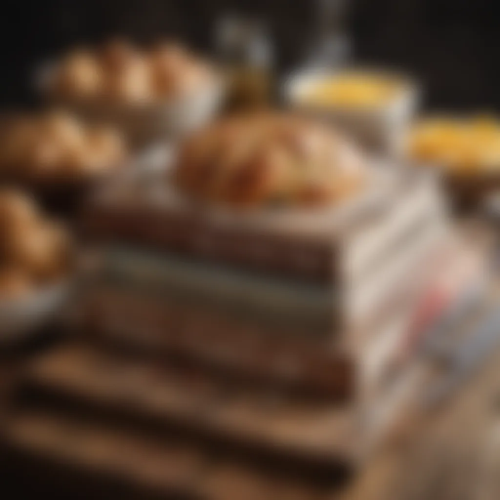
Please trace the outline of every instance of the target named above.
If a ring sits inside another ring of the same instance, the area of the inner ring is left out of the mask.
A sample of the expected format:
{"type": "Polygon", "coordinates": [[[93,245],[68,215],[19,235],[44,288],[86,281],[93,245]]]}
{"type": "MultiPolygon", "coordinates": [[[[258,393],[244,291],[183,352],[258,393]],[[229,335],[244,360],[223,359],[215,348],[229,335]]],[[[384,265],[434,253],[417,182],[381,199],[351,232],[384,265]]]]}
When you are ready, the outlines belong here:
{"type": "MultiPolygon", "coordinates": [[[[355,58],[410,71],[427,89],[429,107],[500,110],[498,0],[346,0],[345,30],[355,58]],[[495,6],[497,7],[495,9],[495,6]]],[[[159,34],[213,46],[221,12],[267,19],[281,69],[312,39],[311,0],[22,0],[0,15],[1,106],[32,102],[37,62],[75,42],[113,34],[139,40],[159,34]]]]}

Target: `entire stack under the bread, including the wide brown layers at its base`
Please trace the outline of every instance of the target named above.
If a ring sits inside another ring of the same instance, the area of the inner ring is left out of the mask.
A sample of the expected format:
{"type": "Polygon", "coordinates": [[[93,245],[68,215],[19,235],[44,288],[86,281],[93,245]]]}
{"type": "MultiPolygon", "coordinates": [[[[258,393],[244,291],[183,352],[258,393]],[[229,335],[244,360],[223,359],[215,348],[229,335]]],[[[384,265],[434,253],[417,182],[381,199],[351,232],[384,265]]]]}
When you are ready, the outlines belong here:
{"type": "Polygon", "coordinates": [[[236,215],[142,175],[83,214],[101,259],[68,310],[81,334],[21,373],[11,455],[189,498],[330,491],[420,400],[420,348],[480,278],[433,178],[383,172],[343,213],[236,215]]]}

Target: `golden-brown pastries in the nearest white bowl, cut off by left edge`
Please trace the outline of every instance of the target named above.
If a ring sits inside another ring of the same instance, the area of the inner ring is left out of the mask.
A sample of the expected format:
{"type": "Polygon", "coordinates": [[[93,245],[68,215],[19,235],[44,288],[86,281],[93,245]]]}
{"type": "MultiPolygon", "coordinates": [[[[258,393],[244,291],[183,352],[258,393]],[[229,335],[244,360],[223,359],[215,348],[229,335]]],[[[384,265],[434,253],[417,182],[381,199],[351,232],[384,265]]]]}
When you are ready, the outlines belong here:
{"type": "Polygon", "coordinates": [[[63,226],[18,191],[0,189],[0,298],[16,298],[62,278],[71,248],[63,226]]]}

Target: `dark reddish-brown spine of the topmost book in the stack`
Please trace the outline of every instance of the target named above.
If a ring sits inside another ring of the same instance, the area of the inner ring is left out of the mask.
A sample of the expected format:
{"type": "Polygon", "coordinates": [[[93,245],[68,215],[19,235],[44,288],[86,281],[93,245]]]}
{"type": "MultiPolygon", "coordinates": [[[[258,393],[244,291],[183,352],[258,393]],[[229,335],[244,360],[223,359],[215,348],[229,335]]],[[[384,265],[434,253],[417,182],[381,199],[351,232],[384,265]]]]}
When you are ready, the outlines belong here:
{"type": "Polygon", "coordinates": [[[137,209],[91,210],[83,217],[83,230],[93,238],[145,245],[272,274],[317,282],[334,280],[335,258],[327,241],[265,231],[229,231],[188,216],[141,213],[137,209]]]}

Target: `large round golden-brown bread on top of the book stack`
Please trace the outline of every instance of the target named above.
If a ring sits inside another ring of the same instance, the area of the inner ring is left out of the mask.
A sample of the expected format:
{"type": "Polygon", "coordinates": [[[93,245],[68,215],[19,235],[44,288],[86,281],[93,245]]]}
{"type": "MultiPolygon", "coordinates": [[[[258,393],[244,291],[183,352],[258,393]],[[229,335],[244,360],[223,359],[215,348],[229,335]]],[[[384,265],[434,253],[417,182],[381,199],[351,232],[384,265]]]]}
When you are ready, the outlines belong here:
{"type": "Polygon", "coordinates": [[[196,132],[173,177],[190,197],[232,206],[321,205],[358,190],[366,168],[340,134],[306,118],[238,115],[196,132]]]}

